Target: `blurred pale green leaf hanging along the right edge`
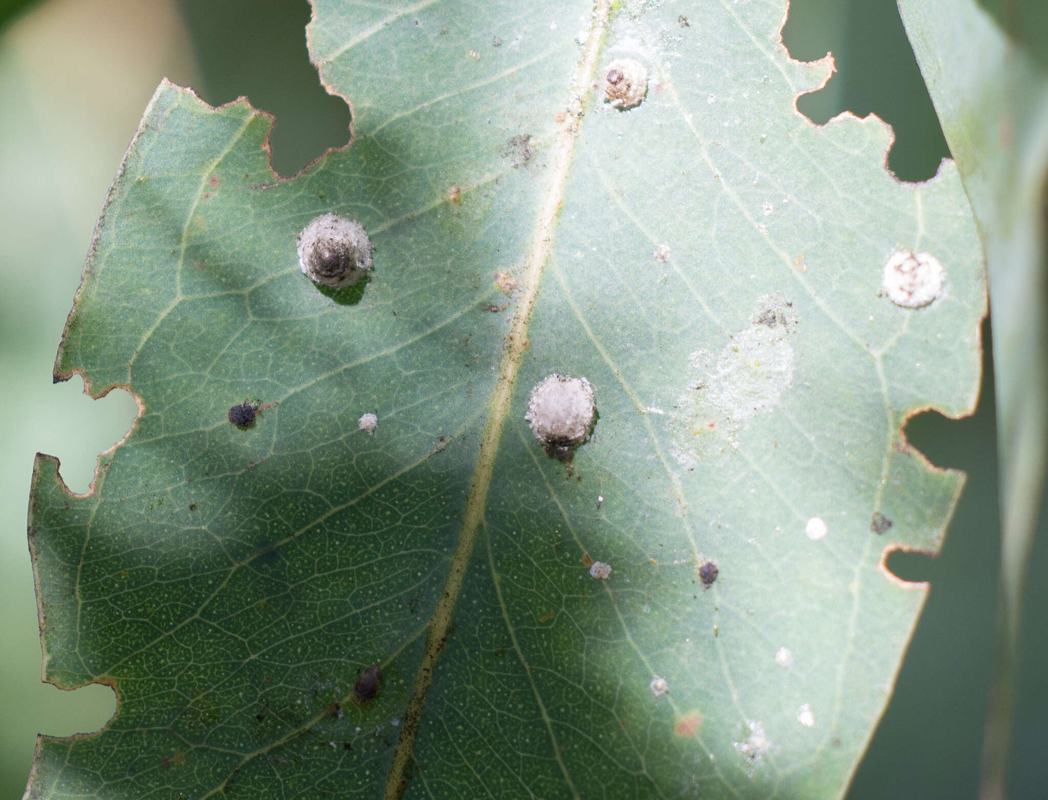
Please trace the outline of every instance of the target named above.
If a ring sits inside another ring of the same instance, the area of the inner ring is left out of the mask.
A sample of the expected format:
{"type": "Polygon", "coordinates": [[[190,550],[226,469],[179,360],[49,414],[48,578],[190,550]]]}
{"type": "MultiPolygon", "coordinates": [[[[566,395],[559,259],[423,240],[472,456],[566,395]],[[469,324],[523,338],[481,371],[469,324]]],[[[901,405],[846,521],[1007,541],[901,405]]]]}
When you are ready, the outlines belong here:
{"type": "Polygon", "coordinates": [[[1023,581],[1048,471],[1048,17],[1039,2],[899,0],[899,8],[971,200],[989,274],[1002,558],[983,797],[1001,798],[1023,581]]]}

